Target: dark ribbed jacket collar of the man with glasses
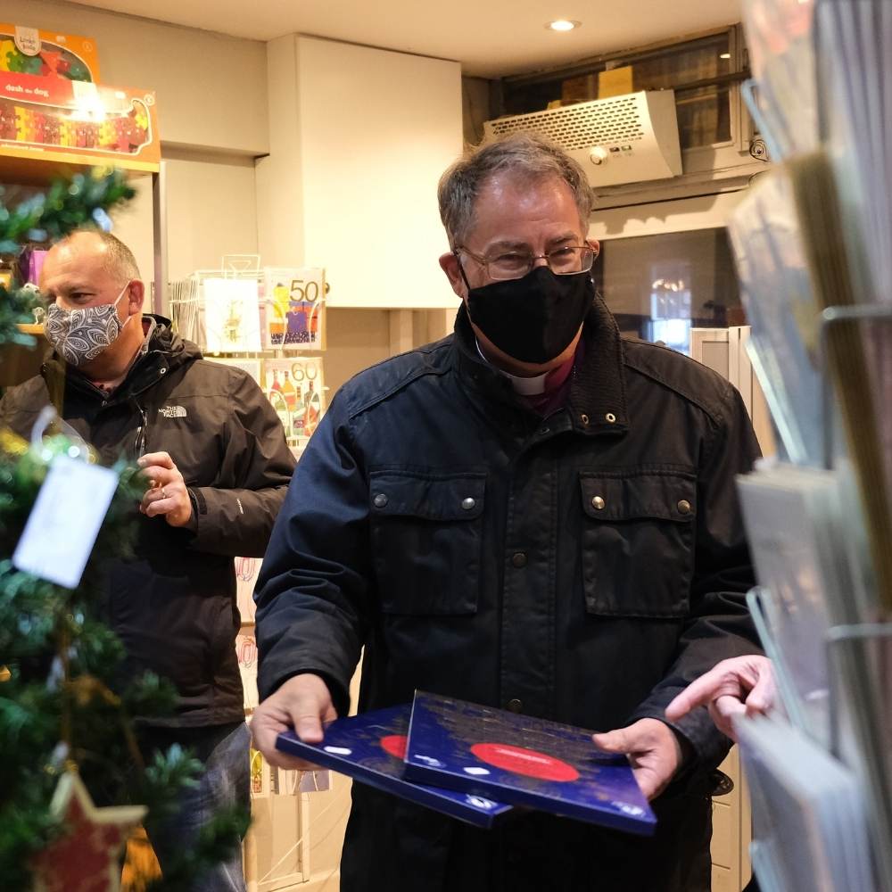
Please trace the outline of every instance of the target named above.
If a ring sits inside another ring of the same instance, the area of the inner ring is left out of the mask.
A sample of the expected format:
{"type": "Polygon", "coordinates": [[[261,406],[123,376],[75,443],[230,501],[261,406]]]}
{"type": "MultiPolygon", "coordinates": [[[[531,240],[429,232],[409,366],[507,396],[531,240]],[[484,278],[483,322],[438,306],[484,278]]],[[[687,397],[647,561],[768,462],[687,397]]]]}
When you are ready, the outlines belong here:
{"type": "MultiPolygon", "coordinates": [[[[585,318],[583,337],[566,406],[571,424],[582,434],[622,434],[629,427],[623,339],[600,295],[585,318]]],[[[455,320],[454,346],[458,372],[466,382],[488,399],[529,411],[508,380],[481,359],[464,303],[455,320]]]]}

